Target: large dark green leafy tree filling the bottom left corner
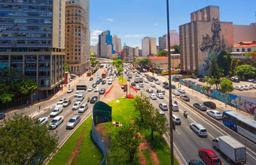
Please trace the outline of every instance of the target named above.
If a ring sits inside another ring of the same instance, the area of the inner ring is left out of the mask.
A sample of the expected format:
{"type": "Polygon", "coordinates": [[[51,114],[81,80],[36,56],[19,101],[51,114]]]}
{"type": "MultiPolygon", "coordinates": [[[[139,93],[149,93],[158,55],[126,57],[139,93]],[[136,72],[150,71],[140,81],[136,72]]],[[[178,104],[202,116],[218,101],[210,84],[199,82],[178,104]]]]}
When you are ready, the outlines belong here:
{"type": "Polygon", "coordinates": [[[4,120],[0,126],[2,164],[32,164],[38,157],[41,157],[38,164],[43,164],[50,153],[56,151],[57,134],[36,121],[37,118],[22,114],[4,120]]]}

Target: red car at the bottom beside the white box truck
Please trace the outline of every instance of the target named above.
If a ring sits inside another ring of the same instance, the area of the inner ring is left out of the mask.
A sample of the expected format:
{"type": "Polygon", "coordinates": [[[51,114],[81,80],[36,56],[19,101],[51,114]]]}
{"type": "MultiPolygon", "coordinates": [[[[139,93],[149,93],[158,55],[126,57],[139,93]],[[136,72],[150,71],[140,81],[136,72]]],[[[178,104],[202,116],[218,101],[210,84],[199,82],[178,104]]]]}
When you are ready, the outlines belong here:
{"type": "Polygon", "coordinates": [[[214,151],[207,148],[200,148],[198,150],[198,155],[206,162],[206,164],[211,165],[221,165],[221,159],[218,157],[214,151]]]}

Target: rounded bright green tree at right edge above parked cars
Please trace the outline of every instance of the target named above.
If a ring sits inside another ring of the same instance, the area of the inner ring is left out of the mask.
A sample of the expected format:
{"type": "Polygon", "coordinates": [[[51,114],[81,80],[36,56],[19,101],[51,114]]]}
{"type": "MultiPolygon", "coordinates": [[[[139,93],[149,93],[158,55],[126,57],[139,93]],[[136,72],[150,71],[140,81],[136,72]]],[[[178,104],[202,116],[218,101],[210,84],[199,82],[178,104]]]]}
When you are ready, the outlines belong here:
{"type": "Polygon", "coordinates": [[[241,65],[236,68],[236,74],[239,77],[245,77],[245,79],[253,78],[256,75],[256,68],[251,65],[241,65]]]}

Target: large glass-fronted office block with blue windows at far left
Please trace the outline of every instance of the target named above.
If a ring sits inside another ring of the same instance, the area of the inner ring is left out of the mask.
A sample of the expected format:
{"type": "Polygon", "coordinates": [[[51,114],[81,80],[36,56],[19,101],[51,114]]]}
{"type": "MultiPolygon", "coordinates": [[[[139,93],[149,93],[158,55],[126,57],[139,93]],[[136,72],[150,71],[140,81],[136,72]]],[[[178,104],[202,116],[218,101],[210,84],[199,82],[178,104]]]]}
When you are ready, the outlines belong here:
{"type": "Polygon", "coordinates": [[[38,90],[54,93],[65,74],[66,1],[0,1],[0,72],[18,68],[38,90]]]}

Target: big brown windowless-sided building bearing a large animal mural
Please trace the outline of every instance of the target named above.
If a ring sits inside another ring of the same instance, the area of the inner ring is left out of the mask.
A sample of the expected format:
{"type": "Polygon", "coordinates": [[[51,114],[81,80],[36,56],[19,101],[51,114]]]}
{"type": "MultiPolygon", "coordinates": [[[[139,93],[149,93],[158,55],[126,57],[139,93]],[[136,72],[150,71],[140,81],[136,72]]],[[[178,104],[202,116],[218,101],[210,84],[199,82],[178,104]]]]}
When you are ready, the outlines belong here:
{"type": "Polygon", "coordinates": [[[209,75],[211,59],[233,47],[233,23],[220,22],[218,6],[190,13],[190,23],[179,26],[181,71],[209,75]]]}

